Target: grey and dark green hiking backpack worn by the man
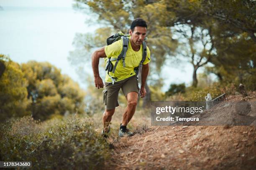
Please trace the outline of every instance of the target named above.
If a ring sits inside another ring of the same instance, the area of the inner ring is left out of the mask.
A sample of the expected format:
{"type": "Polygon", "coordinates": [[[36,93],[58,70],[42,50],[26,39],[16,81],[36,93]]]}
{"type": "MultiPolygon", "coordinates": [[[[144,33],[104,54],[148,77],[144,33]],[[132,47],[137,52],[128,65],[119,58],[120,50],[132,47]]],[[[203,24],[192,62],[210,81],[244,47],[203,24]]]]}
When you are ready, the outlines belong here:
{"type": "MultiPolygon", "coordinates": [[[[119,32],[115,33],[114,35],[111,35],[110,37],[107,38],[107,45],[110,45],[120,39],[122,39],[122,41],[123,41],[123,49],[122,49],[121,53],[118,55],[118,57],[117,58],[110,57],[107,61],[105,70],[108,71],[108,75],[109,75],[109,72],[115,73],[116,66],[118,65],[118,62],[121,59],[123,60],[123,67],[125,67],[125,55],[128,50],[128,43],[129,43],[128,37],[130,37],[129,34],[123,34],[123,32],[119,31],[119,32]],[[116,62],[115,62],[115,65],[113,66],[111,61],[115,61],[115,60],[116,60],[116,62]]],[[[138,67],[134,68],[137,79],[138,79],[139,69],[142,67],[142,63],[146,60],[146,56],[147,56],[147,45],[146,45],[145,41],[142,42],[142,47],[143,47],[142,60],[141,60],[140,64],[138,65],[138,67]]],[[[148,60],[150,60],[150,59],[148,58],[148,60]]],[[[117,77],[112,77],[110,75],[109,75],[109,77],[112,80],[112,84],[114,84],[115,80],[118,79],[117,77]]]]}

